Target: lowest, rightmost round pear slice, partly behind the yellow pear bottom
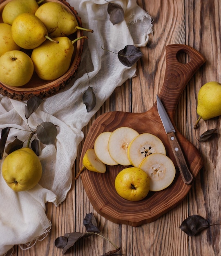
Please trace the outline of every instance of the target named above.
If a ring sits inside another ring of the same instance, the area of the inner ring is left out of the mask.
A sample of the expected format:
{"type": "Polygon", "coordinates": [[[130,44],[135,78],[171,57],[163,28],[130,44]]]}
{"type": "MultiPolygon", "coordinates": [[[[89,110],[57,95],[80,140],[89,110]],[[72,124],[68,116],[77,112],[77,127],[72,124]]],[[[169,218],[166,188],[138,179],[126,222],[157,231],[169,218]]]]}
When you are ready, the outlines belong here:
{"type": "Polygon", "coordinates": [[[150,178],[150,191],[161,191],[173,182],[176,168],[172,160],[162,153],[154,153],[145,157],[139,168],[150,178]]]}

